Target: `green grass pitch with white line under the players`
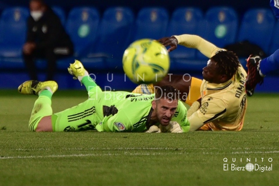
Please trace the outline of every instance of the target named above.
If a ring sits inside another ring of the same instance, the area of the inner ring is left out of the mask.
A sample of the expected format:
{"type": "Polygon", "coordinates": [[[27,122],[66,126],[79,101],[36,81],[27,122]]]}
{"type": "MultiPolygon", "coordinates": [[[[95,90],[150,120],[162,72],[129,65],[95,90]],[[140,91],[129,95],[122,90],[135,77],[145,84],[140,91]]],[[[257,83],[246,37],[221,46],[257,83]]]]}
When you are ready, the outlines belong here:
{"type": "MultiPolygon", "coordinates": [[[[240,132],[183,134],[32,133],[36,98],[0,91],[0,185],[279,185],[278,94],[248,97],[240,132]]],[[[86,99],[58,90],[53,112],[86,99]]]]}

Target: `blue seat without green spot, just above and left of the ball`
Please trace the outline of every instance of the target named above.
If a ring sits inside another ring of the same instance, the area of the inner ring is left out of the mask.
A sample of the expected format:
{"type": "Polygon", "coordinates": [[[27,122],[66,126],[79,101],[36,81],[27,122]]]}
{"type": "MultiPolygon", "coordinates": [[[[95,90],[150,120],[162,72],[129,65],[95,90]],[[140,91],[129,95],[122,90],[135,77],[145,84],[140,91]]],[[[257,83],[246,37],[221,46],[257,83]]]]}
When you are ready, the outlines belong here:
{"type": "Polygon", "coordinates": [[[134,13],[128,7],[110,7],[105,10],[99,26],[98,38],[92,45],[87,59],[96,67],[98,60],[105,60],[106,69],[123,71],[122,56],[130,44],[130,34],[134,23],[134,13]]]}

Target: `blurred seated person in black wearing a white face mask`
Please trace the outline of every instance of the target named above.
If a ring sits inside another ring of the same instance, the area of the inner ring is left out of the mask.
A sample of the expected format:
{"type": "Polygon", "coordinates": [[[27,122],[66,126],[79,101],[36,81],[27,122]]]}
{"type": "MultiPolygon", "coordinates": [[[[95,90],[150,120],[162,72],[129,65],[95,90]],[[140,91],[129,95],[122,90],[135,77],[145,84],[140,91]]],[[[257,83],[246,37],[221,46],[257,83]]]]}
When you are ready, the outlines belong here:
{"type": "Polygon", "coordinates": [[[59,17],[43,0],[29,1],[30,17],[27,20],[27,37],[23,58],[31,79],[37,80],[36,59],[47,60],[47,80],[52,80],[56,60],[73,54],[74,46],[59,17]]]}

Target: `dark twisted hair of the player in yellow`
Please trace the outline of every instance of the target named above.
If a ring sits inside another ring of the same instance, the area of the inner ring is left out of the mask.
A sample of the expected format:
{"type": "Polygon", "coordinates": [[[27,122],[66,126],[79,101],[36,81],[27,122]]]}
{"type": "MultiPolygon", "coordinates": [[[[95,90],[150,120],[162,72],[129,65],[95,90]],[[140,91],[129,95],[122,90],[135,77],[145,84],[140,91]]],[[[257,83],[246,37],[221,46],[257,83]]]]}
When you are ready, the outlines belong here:
{"type": "Polygon", "coordinates": [[[240,66],[238,57],[232,51],[219,50],[210,59],[216,62],[219,74],[225,74],[229,79],[232,78],[240,66]]]}

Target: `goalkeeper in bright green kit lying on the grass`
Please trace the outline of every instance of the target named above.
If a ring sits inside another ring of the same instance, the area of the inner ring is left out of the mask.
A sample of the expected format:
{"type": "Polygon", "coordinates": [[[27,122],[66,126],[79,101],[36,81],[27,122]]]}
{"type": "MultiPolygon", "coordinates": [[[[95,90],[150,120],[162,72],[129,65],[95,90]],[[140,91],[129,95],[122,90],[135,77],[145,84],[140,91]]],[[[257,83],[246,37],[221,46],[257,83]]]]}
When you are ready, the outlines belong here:
{"type": "MultiPolygon", "coordinates": [[[[28,127],[30,131],[145,132],[150,126],[172,133],[187,132],[187,109],[179,93],[170,85],[156,88],[155,94],[102,91],[90,78],[82,63],[75,60],[68,71],[85,85],[88,99],[58,113],[52,113],[51,97],[57,90],[55,81],[25,81],[21,94],[35,94],[28,127]],[[180,124],[180,125],[179,125],[180,124]]],[[[158,131],[158,132],[160,132],[158,131]]],[[[154,132],[154,131],[153,131],[154,132]]]]}

